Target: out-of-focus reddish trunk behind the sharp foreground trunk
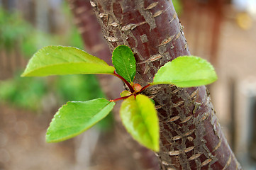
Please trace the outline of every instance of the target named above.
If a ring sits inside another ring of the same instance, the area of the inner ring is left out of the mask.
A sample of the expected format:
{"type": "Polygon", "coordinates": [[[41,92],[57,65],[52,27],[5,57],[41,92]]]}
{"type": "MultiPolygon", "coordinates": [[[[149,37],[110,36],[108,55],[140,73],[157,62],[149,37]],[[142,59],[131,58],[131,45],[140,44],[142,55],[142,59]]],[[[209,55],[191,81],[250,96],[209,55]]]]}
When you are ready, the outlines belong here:
{"type": "MultiPolygon", "coordinates": [[[[74,23],[76,23],[79,33],[82,35],[82,40],[87,52],[105,60],[108,64],[112,64],[110,50],[101,33],[101,26],[97,22],[90,1],[68,0],[68,2],[74,15],[74,23]]],[[[98,75],[98,78],[101,86],[103,87],[104,93],[108,98],[113,99],[120,97],[123,85],[120,84],[119,79],[116,81],[116,77],[105,74],[98,75]]],[[[115,108],[118,108],[118,106],[115,108]]],[[[118,138],[119,141],[121,140],[123,145],[126,145],[126,143],[129,144],[129,146],[127,145],[125,148],[122,147],[123,152],[126,152],[126,154],[133,154],[134,157],[128,156],[125,159],[130,162],[138,162],[138,164],[133,164],[132,166],[127,167],[130,169],[158,170],[159,167],[155,154],[145,147],[138,145],[138,143],[135,142],[128,133],[126,133],[119,118],[118,109],[115,109],[114,112],[117,113],[115,114],[117,115],[115,116],[115,139],[118,138]],[[140,157],[140,155],[143,155],[143,157],[140,157]]],[[[118,157],[117,155],[114,156],[118,157]]]]}

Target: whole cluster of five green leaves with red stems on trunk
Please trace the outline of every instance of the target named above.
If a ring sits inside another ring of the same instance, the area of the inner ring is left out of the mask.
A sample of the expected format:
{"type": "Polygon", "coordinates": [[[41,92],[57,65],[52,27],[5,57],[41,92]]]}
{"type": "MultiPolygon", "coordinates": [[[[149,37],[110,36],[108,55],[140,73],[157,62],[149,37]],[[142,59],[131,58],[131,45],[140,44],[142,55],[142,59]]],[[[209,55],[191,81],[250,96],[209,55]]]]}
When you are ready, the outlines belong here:
{"type": "Polygon", "coordinates": [[[96,98],[91,101],[69,101],[57,111],[46,134],[47,142],[60,142],[79,135],[103,119],[124,100],[120,115],[123,125],[140,144],[159,151],[159,125],[154,103],[141,94],[148,86],[174,84],[179,87],[201,86],[217,79],[216,73],[206,60],[183,56],[168,62],[155,74],[152,83],[134,84],[136,73],[133,52],[126,45],[113,51],[113,66],[75,47],[48,46],[39,50],[28,62],[23,77],[43,77],[65,74],[111,74],[120,78],[130,89],[121,98],[108,101],[96,98]]]}

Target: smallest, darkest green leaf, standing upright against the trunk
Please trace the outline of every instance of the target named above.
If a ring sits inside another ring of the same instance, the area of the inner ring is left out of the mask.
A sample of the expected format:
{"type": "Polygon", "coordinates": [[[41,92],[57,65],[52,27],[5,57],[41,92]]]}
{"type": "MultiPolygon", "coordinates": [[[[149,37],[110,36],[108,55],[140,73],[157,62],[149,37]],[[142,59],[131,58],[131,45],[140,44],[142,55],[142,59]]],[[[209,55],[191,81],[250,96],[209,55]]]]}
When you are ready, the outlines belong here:
{"type": "Polygon", "coordinates": [[[132,50],[126,45],[119,45],[113,50],[112,62],[117,74],[126,79],[130,84],[133,84],[136,73],[136,61],[132,50]]]}

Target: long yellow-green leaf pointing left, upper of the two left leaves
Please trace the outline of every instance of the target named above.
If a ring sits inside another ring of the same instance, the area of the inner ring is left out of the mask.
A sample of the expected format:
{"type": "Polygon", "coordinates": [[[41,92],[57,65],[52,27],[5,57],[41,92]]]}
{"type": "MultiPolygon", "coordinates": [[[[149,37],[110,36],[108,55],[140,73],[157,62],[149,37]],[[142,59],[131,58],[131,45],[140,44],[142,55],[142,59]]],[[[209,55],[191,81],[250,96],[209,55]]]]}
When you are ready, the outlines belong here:
{"type": "Polygon", "coordinates": [[[76,47],[48,46],[35,53],[22,77],[64,74],[113,74],[114,68],[76,47]]]}

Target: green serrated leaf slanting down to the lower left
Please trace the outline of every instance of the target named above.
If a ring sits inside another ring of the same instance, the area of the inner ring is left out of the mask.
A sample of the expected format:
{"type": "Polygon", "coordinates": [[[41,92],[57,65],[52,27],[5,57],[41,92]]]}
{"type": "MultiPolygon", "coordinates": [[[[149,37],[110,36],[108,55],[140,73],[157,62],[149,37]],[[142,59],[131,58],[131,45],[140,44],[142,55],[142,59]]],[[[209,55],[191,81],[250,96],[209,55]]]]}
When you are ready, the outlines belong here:
{"type": "Polygon", "coordinates": [[[67,102],[52,119],[46,132],[46,142],[60,142],[81,134],[105,118],[114,105],[104,98],[67,102]]]}

